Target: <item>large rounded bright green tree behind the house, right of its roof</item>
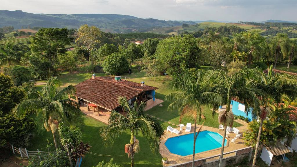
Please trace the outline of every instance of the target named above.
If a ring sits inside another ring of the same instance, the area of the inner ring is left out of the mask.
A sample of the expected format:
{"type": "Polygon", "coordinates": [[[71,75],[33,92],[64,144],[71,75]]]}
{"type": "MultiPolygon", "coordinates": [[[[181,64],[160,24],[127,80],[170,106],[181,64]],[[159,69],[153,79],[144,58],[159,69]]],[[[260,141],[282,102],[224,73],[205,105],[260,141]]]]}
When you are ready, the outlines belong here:
{"type": "Polygon", "coordinates": [[[190,68],[198,66],[199,53],[197,39],[192,35],[184,35],[161,40],[155,57],[169,75],[179,78],[190,68]]]}

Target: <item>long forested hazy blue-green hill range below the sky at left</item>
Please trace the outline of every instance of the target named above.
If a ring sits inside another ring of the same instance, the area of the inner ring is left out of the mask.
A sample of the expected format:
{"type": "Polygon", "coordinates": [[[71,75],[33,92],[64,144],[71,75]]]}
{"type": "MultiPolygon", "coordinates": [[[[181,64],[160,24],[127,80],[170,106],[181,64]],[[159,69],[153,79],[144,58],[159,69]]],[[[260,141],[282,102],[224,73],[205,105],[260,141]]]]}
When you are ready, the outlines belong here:
{"type": "Polygon", "coordinates": [[[0,10],[0,27],[14,26],[15,29],[22,26],[78,28],[89,24],[107,32],[131,32],[150,27],[180,26],[183,23],[195,24],[192,21],[164,21],[116,14],[33,14],[21,10],[0,10]]]}

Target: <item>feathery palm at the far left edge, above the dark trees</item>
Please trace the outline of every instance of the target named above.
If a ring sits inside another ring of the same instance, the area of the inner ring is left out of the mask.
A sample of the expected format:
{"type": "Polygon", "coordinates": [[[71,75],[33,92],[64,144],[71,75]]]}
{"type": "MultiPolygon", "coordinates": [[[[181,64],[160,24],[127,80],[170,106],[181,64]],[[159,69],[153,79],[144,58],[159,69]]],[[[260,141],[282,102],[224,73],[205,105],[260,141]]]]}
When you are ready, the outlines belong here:
{"type": "Polygon", "coordinates": [[[7,43],[0,46],[0,65],[6,64],[8,67],[12,64],[19,64],[16,52],[12,49],[12,44],[7,43]]]}

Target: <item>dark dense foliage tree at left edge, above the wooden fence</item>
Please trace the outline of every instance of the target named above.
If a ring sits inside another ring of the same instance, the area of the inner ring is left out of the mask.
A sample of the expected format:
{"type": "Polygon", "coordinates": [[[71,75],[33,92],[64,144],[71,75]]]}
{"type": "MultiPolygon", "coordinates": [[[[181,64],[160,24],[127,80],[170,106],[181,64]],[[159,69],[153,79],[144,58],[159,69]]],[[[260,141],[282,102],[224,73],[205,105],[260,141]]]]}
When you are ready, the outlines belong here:
{"type": "Polygon", "coordinates": [[[25,98],[25,92],[15,87],[8,75],[0,73],[0,146],[7,142],[17,147],[28,146],[33,130],[34,120],[27,114],[17,120],[10,110],[25,98]]]}

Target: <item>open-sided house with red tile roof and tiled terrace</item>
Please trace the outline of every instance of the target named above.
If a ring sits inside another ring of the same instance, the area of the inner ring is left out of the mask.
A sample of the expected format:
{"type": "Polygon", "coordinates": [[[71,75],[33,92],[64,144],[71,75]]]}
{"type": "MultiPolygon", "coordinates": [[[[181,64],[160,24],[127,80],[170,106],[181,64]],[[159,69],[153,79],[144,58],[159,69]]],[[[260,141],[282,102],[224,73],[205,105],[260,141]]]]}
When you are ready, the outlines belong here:
{"type": "Polygon", "coordinates": [[[144,82],[127,81],[121,79],[121,76],[96,77],[96,75],[92,75],[92,78],[78,83],[74,87],[76,92],[73,96],[80,103],[81,110],[105,123],[108,122],[110,111],[122,112],[118,97],[126,97],[131,107],[135,101],[146,102],[146,108],[163,102],[155,98],[157,87],[145,85],[144,82]],[[98,114],[93,112],[95,110],[98,111],[98,114]]]}

